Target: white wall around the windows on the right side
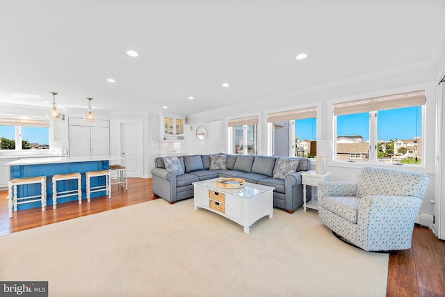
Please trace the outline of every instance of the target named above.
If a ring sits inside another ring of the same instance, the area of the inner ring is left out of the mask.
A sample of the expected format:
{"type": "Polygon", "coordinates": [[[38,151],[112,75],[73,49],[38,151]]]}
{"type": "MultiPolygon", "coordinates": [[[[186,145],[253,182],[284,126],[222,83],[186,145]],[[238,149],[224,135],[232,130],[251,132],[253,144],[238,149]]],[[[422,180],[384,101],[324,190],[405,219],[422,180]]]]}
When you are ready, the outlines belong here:
{"type": "MultiPolygon", "coordinates": [[[[211,127],[209,134],[216,134],[220,136],[220,147],[227,147],[227,118],[234,116],[243,116],[248,113],[259,113],[259,153],[266,154],[267,152],[267,129],[266,129],[266,115],[270,111],[277,109],[293,108],[294,106],[301,106],[308,104],[319,104],[321,106],[320,116],[318,117],[317,125],[321,129],[317,129],[321,133],[318,134],[318,139],[332,139],[332,112],[328,111],[329,103],[332,101],[346,99],[350,97],[366,98],[369,94],[378,94],[391,92],[391,90],[403,90],[414,88],[414,86],[429,86],[429,93],[427,94],[428,111],[426,116],[426,147],[428,155],[426,156],[426,167],[416,168],[414,170],[425,172],[430,176],[430,183],[426,194],[423,198],[421,212],[427,214],[434,214],[434,205],[430,204],[430,200],[435,199],[435,88],[437,77],[437,68],[435,66],[422,67],[417,69],[414,65],[412,69],[405,68],[404,70],[391,70],[387,73],[369,74],[366,77],[356,77],[354,79],[337,81],[327,83],[325,85],[316,86],[314,88],[307,88],[305,90],[298,90],[296,92],[286,93],[282,95],[275,95],[252,102],[243,102],[236,106],[227,106],[213,111],[206,111],[205,113],[196,113],[188,116],[188,122],[211,122],[212,120],[220,120],[220,127],[211,127]],[[261,126],[263,126],[261,128],[261,126]],[[218,131],[219,130],[219,131],[218,131]]],[[[199,153],[191,150],[191,153],[199,153]]],[[[332,172],[332,180],[354,182],[357,174],[363,165],[356,165],[355,167],[332,166],[332,163],[327,164],[327,170],[332,172]]]]}

